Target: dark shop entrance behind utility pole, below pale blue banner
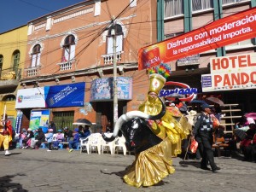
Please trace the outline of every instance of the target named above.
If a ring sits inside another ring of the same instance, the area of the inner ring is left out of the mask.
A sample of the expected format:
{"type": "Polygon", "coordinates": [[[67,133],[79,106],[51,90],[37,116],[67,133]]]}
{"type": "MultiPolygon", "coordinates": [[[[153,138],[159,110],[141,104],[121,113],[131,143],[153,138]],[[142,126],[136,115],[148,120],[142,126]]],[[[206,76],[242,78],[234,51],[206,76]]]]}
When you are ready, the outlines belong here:
{"type": "MultiPolygon", "coordinates": [[[[118,116],[127,112],[126,101],[119,101],[118,106],[118,116]]],[[[113,102],[96,102],[96,131],[99,132],[101,129],[106,131],[108,121],[113,125],[113,102]]]]}

